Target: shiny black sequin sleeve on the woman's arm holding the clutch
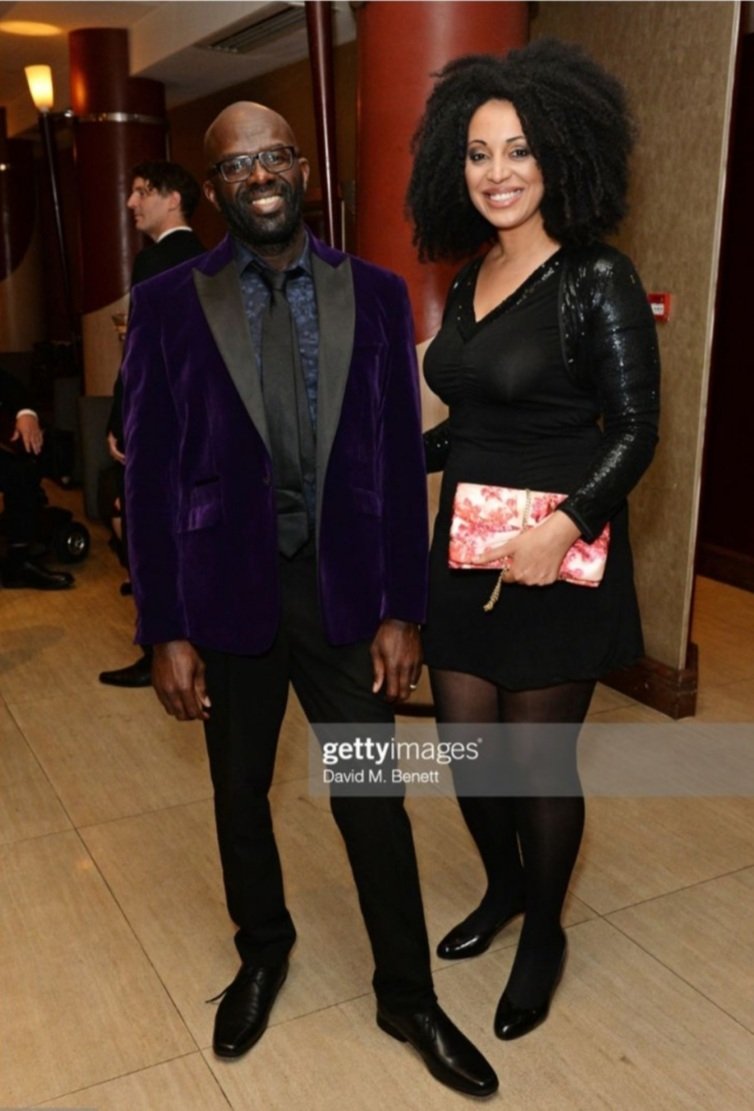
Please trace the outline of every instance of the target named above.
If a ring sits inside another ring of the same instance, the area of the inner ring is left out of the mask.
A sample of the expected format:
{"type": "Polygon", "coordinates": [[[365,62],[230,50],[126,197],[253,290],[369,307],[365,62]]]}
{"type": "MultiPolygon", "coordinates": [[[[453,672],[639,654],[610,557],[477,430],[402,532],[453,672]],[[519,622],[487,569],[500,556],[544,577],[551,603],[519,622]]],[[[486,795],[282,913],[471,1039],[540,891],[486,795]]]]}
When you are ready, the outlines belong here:
{"type": "MultiPolygon", "coordinates": [[[[639,274],[630,259],[610,249],[590,269],[587,281],[565,283],[564,300],[581,298],[579,342],[604,434],[583,481],[560,507],[586,540],[599,536],[649,467],[660,416],[656,330],[639,274]]],[[[574,319],[567,304],[562,316],[574,319]]]]}

